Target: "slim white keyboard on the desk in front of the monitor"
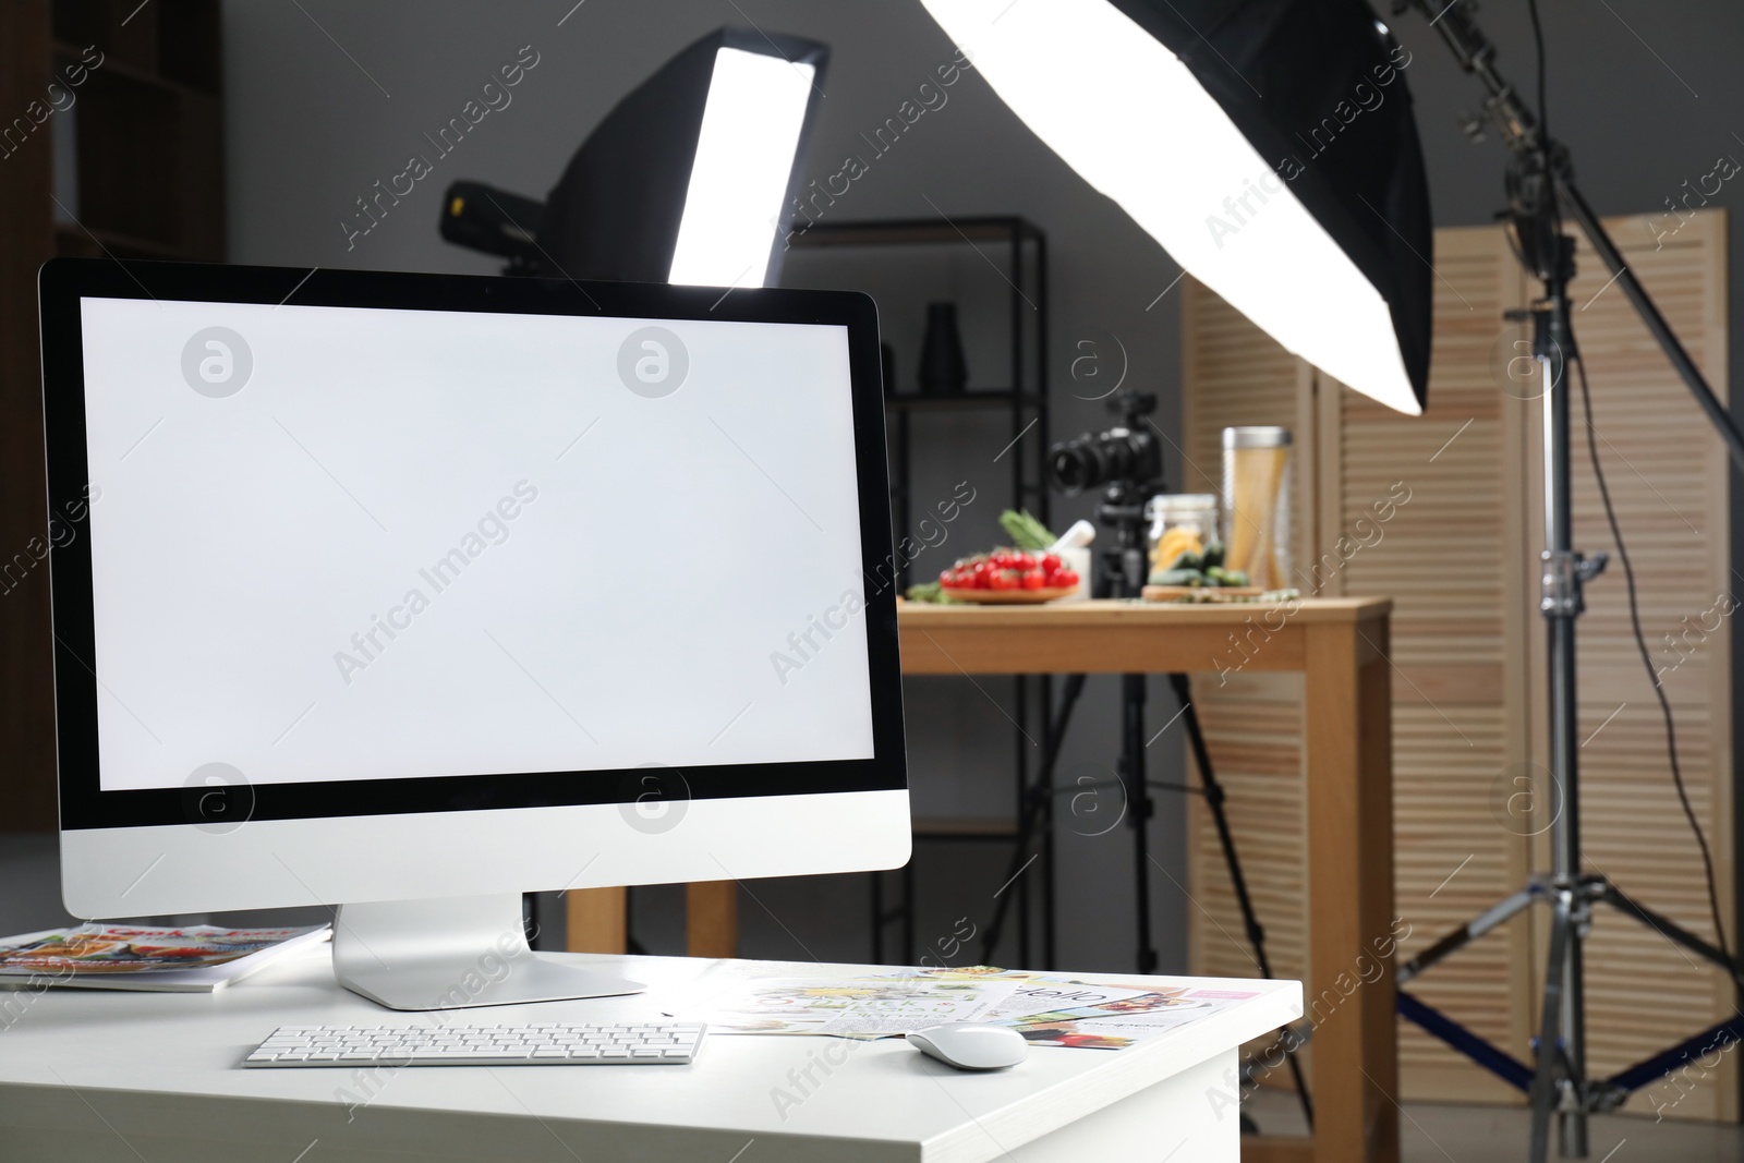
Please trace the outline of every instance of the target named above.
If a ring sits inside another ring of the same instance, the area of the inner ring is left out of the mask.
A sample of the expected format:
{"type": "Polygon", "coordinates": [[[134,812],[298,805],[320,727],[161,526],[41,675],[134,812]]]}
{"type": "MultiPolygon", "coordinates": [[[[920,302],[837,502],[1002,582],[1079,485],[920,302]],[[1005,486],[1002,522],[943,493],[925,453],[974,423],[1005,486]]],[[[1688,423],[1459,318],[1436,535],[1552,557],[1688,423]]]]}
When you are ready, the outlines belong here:
{"type": "Polygon", "coordinates": [[[682,1065],[708,1027],[635,1025],[281,1025],[242,1065],[682,1065]]]}

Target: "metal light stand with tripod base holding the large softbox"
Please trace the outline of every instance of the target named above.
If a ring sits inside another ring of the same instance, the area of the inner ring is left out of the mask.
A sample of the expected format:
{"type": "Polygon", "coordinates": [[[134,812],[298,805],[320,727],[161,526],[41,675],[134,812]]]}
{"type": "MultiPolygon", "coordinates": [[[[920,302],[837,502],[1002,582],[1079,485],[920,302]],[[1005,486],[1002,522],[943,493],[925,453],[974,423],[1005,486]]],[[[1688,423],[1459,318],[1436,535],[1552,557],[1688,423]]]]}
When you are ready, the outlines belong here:
{"type": "MultiPolygon", "coordinates": [[[[1584,610],[1582,588],[1606,563],[1604,554],[1584,558],[1571,544],[1571,490],[1570,452],[1571,385],[1570,361],[1578,359],[1570,326],[1568,282],[1575,274],[1575,242],[1563,234],[1561,209],[1568,209],[1592,242],[1592,248],[1613,272],[1629,302],[1641,316],[1648,331],[1664,349],[1678,375],[1688,385],[1697,403],[1713,420],[1732,459],[1744,467],[1744,438],[1727,408],[1707,387],[1695,363],[1678,343],[1634,274],[1624,265],[1617,246],[1604,234],[1598,216],[1575,187],[1568,153],[1545,139],[1538,120],[1521,96],[1495,70],[1495,45],[1477,30],[1468,5],[1458,0],[1442,7],[1442,0],[1402,0],[1395,14],[1416,9],[1430,17],[1441,38],[1453,51],[1465,71],[1479,77],[1489,91],[1486,112],[1498,127],[1503,143],[1512,152],[1509,164],[1509,220],[1519,244],[1519,258],[1528,272],[1543,284],[1543,295],[1524,312],[1510,312],[1514,319],[1531,319],[1533,356],[1543,375],[1543,506],[1545,551],[1540,588],[1540,612],[1549,635],[1549,694],[1550,694],[1550,875],[1533,877],[1489,912],[1465,928],[1444,936],[1409,964],[1397,971],[1399,985],[1461,949],[1468,942],[1495,929],[1528,908],[1533,901],[1550,907],[1550,947],[1543,978],[1543,1008],[1536,1053],[1531,1067],[1507,1051],[1472,1034],[1442,1013],[1437,1013],[1402,989],[1399,1011],[1453,1048],[1472,1057],[1479,1065],[1505,1081],[1526,1090],[1531,1098],[1533,1128],[1529,1158],[1542,1163],[1549,1151],[1552,1116],[1559,1123],[1559,1146],[1564,1158],[1587,1156],[1587,1116],[1613,1111],[1631,1092],[1659,1079],[1667,1071],[1699,1053],[1730,1044],[1744,1037],[1744,1015],[1702,1030],[1662,1053],[1653,1055],[1610,1079],[1592,1079],[1585,1062],[1585,973],[1582,943],[1592,921],[1592,905],[1604,901],[1618,912],[1646,924],[1678,945],[1725,968],[1734,978],[1737,966],[1720,949],[1672,924],[1666,917],[1629,900],[1604,877],[1582,870],[1580,853],[1580,783],[1578,783],[1578,706],[1575,699],[1575,621],[1584,610]]],[[[1591,424],[1591,417],[1587,418],[1591,424]]]]}

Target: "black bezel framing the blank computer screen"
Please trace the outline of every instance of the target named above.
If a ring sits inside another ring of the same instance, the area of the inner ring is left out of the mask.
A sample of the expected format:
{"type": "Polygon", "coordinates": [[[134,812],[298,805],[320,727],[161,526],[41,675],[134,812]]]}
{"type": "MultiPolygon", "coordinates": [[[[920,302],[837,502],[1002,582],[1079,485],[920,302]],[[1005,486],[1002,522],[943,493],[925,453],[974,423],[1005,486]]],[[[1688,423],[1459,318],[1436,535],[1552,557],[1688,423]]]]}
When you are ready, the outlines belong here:
{"type": "MultiPolygon", "coordinates": [[[[54,629],[56,764],[61,830],[204,825],[188,788],[101,790],[82,298],[378,307],[626,319],[806,323],[848,330],[855,462],[860,492],[863,628],[872,704],[872,758],[675,767],[663,797],[738,799],[907,790],[889,474],[877,307],[851,291],[732,289],[577,282],[448,274],[232,267],[211,263],[56,258],[38,279],[44,436],[54,629]],[[68,537],[70,534],[70,537],[68,537]],[[59,544],[65,541],[65,544],[59,544]]],[[[645,797],[649,769],[492,776],[262,783],[234,793],[249,820],[321,820],[422,813],[624,804],[645,797]]]]}

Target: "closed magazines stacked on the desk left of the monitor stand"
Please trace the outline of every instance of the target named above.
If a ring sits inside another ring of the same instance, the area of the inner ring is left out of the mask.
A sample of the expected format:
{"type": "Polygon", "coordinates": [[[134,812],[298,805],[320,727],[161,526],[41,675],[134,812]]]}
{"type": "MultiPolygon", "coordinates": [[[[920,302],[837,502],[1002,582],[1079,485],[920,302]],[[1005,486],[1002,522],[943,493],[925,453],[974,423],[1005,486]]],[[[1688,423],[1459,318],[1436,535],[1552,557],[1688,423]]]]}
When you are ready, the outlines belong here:
{"type": "Polygon", "coordinates": [[[331,926],[152,929],[82,924],[0,938],[0,989],[138,989],[209,994],[293,949],[324,942],[331,926]]]}

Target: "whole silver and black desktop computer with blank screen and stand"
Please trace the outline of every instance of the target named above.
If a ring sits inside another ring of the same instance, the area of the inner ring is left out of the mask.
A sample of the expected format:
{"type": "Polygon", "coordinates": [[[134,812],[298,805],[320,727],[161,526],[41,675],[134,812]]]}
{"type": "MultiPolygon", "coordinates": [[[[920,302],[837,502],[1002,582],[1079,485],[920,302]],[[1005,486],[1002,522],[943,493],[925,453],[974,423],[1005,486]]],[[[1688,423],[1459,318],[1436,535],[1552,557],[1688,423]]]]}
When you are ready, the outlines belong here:
{"type": "Polygon", "coordinates": [[[528,952],[525,891],[907,861],[869,298],[40,296],[75,915],[337,903],[340,982],[427,1010],[640,989],[528,952]]]}

